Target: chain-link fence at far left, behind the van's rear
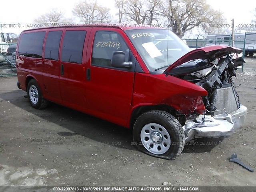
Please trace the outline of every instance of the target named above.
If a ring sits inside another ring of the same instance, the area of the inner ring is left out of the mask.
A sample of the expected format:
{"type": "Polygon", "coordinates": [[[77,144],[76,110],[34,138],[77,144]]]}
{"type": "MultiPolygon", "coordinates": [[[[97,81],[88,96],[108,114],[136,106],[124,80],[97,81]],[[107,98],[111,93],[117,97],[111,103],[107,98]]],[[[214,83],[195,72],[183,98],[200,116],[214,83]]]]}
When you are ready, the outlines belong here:
{"type": "Polygon", "coordinates": [[[16,44],[0,44],[0,77],[16,76],[16,44]],[[5,50],[4,52],[1,52],[5,50]]]}

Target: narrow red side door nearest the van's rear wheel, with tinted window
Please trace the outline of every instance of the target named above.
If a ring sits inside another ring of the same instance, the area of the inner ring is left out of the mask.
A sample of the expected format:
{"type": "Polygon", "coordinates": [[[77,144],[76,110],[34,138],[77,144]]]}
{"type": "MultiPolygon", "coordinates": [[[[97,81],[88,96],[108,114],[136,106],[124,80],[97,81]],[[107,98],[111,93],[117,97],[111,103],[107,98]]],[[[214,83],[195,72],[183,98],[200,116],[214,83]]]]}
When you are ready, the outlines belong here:
{"type": "Polygon", "coordinates": [[[60,96],[60,40],[63,31],[49,31],[44,45],[43,83],[46,99],[61,103],[60,96]]]}

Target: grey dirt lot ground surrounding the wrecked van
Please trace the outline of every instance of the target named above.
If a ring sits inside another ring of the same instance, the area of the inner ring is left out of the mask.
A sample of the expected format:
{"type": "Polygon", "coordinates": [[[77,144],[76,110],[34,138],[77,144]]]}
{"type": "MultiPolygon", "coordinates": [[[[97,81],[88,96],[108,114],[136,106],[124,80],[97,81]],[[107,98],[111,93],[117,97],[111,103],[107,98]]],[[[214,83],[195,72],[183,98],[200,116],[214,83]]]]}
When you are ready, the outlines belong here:
{"type": "Polygon", "coordinates": [[[0,78],[0,186],[255,186],[256,172],[229,162],[237,153],[256,168],[255,70],[248,57],[234,78],[248,107],[244,127],[186,144],[173,161],[138,151],[120,126],[57,104],[36,110],[17,77],[0,78]]]}

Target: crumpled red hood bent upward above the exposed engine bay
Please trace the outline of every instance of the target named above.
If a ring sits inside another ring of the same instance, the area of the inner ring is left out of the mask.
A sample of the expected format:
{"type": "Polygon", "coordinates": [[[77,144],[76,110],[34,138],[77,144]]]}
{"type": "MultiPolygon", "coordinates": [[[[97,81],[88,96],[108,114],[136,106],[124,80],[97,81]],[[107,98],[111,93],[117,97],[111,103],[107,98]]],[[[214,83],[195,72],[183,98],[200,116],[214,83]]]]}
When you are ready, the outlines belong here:
{"type": "Polygon", "coordinates": [[[236,47],[229,47],[225,45],[212,45],[207,47],[202,47],[199,49],[192,50],[176,60],[172,65],[170,65],[165,71],[165,74],[168,74],[173,68],[176,68],[177,66],[191,61],[195,59],[207,59],[209,62],[212,62],[213,60],[226,56],[231,53],[242,53],[243,50],[236,48],[236,47]]]}

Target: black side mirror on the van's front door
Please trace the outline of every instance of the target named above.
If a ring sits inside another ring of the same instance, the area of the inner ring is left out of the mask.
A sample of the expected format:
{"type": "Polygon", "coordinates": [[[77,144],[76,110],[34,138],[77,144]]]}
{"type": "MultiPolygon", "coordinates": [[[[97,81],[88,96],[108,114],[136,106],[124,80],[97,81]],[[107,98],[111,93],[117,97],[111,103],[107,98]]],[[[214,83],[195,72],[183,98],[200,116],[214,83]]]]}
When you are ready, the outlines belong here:
{"type": "Polygon", "coordinates": [[[130,68],[132,67],[132,62],[125,62],[123,51],[116,51],[113,53],[111,65],[116,68],[130,68]]]}

